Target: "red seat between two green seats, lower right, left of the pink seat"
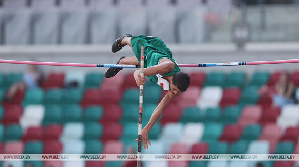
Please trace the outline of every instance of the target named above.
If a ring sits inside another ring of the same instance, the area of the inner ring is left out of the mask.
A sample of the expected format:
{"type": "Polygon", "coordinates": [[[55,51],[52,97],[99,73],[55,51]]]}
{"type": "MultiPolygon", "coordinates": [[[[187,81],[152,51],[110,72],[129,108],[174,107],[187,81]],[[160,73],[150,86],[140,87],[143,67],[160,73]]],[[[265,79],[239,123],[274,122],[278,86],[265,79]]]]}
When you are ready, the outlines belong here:
{"type": "Polygon", "coordinates": [[[236,142],[242,135],[242,127],[238,125],[227,125],[224,128],[220,141],[233,143],[236,142]]]}

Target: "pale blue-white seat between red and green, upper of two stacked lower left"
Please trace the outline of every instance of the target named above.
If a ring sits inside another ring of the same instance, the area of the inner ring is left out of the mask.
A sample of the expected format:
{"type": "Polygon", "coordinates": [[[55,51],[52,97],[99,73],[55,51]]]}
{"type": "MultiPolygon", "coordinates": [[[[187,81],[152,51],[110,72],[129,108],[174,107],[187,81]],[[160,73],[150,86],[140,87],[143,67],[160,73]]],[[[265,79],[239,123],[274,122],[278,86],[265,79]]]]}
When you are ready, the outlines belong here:
{"type": "Polygon", "coordinates": [[[81,122],[69,122],[63,126],[61,141],[80,140],[84,136],[84,124],[81,122]]]}

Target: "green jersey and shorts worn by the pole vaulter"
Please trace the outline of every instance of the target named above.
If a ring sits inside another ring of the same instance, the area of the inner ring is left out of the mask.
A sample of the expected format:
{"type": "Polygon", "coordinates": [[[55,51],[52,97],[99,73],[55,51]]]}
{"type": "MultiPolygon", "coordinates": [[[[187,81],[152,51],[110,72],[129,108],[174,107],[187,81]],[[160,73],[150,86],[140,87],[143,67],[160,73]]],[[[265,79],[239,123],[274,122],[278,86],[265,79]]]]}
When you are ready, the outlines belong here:
{"type": "MultiPolygon", "coordinates": [[[[162,58],[168,58],[175,63],[172,71],[163,74],[163,76],[170,76],[180,71],[175,60],[172,59],[172,53],[165,43],[157,37],[149,37],[144,35],[134,36],[131,39],[131,44],[140,62],[141,46],[145,46],[145,68],[157,65],[162,58]]],[[[157,83],[157,77],[155,75],[149,76],[152,82],[157,83]]]]}

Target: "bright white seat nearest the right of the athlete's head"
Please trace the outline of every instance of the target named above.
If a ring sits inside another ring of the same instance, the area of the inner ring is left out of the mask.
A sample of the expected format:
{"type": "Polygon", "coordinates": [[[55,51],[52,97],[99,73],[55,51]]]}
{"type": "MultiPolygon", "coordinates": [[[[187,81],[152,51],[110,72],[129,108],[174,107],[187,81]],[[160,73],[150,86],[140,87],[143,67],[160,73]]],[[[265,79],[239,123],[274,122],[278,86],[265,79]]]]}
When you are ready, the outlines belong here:
{"type": "Polygon", "coordinates": [[[223,89],[219,86],[206,86],[201,89],[200,97],[197,99],[196,106],[200,109],[208,107],[218,107],[222,99],[223,89]]]}

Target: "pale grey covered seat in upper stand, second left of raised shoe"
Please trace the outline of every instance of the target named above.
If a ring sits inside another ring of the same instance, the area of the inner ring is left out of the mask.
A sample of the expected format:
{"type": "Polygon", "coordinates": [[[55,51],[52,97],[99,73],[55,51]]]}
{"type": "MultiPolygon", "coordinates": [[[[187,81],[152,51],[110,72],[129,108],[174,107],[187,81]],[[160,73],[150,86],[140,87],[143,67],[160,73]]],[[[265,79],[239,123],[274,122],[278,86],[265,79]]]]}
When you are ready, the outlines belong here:
{"type": "MultiPolygon", "coordinates": [[[[69,0],[72,1],[72,0],[69,0]]],[[[75,0],[74,0],[75,1],[75,0]]],[[[61,44],[84,44],[87,42],[89,12],[74,10],[63,12],[61,23],[61,44]]]]}

